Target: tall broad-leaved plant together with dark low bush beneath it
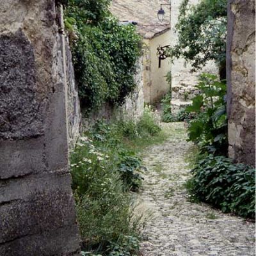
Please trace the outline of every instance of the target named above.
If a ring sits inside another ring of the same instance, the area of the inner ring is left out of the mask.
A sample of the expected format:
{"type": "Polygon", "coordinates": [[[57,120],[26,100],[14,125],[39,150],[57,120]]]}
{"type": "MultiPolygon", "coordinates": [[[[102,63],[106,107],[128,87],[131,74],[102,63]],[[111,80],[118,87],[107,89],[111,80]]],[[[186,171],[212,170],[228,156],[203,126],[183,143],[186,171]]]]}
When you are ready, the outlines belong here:
{"type": "Polygon", "coordinates": [[[246,218],[255,218],[255,169],[233,164],[227,156],[226,84],[211,74],[202,74],[196,86],[200,94],[186,111],[189,140],[198,145],[193,177],[186,188],[193,202],[203,201],[246,218]]]}

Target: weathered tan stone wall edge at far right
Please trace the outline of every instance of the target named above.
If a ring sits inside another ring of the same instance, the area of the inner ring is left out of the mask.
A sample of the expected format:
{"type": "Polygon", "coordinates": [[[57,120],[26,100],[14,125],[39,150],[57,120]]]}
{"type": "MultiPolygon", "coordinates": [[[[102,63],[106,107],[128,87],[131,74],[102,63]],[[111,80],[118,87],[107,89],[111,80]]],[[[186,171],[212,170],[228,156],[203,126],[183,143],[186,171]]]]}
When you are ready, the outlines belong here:
{"type": "Polygon", "coordinates": [[[255,1],[228,1],[229,156],[255,166],[255,1]]]}

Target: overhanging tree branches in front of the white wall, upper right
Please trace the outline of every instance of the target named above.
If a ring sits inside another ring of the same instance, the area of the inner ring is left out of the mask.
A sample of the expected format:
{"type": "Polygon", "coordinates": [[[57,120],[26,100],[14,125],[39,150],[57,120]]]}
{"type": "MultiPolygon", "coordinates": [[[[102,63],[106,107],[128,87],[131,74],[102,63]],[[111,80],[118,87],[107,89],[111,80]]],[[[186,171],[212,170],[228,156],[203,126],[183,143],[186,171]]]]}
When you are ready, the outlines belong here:
{"type": "MultiPolygon", "coordinates": [[[[227,0],[201,0],[191,6],[180,5],[178,43],[170,49],[172,58],[185,58],[193,70],[214,60],[223,68],[226,55],[227,0]]],[[[223,77],[225,78],[225,77],[223,77]]]]}

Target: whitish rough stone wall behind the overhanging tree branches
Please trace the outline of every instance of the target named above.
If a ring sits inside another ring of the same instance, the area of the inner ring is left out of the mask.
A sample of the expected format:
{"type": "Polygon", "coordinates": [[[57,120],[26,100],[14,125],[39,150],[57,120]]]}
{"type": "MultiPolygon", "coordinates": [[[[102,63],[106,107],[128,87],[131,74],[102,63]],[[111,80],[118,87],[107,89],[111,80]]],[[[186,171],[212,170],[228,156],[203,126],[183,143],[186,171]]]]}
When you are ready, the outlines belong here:
{"type": "MultiPolygon", "coordinates": [[[[175,32],[175,26],[178,22],[179,7],[183,0],[172,0],[172,13],[171,13],[171,37],[172,45],[175,45],[178,40],[178,34],[175,32]]],[[[197,4],[199,0],[189,0],[189,4],[197,4]]],[[[199,72],[190,72],[191,65],[186,64],[185,60],[180,58],[174,60],[172,64],[172,97],[173,100],[186,101],[193,98],[195,95],[195,85],[198,83],[198,76],[202,72],[209,72],[218,74],[218,68],[213,61],[209,61],[207,65],[199,72]]]]}

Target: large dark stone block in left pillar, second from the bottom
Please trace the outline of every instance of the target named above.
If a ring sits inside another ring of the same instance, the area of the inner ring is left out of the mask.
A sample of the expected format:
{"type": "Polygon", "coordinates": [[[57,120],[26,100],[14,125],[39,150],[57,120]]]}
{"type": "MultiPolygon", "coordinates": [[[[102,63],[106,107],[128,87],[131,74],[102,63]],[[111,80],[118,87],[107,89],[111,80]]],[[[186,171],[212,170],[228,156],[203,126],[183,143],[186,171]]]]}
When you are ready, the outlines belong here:
{"type": "Polygon", "coordinates": [[[75,223],[70,181],[70,175],[46,175],[1,186],[0,244],[75,223]]]}

